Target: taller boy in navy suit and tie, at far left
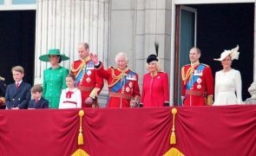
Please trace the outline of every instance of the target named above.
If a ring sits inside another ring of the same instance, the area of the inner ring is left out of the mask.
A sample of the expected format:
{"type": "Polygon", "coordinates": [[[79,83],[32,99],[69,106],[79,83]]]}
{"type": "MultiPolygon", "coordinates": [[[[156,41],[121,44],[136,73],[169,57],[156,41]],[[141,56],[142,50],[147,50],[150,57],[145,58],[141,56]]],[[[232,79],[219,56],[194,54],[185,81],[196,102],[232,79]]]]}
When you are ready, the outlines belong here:
{"type": "Polygon", "coordinates": [[[30,84],[23,81],[24,69],[11,68],[14,83],[7,86],[5,94],[6,109],[27,109],[31,98],[30,84]]]}

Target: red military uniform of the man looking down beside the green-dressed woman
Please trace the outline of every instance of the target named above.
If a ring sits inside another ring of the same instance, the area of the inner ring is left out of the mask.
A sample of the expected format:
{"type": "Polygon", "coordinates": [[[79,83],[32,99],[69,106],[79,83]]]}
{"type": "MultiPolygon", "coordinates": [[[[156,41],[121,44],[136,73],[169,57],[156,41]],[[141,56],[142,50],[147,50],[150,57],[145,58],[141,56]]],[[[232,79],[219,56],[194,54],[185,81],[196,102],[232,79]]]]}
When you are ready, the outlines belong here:
{"type": "Polygon", "coordinates": [[[86,105],[84,101],[88,97],[96,99],[96,96],[100,94],[104,86],[102,77],[97,75],[94,62],[91,61],[89,56],[84,61],[75,61],[71,64],[70,72],[75,75],[75,86],[82,93],[82,107],[92,107],[91,105],[86,105]]]}

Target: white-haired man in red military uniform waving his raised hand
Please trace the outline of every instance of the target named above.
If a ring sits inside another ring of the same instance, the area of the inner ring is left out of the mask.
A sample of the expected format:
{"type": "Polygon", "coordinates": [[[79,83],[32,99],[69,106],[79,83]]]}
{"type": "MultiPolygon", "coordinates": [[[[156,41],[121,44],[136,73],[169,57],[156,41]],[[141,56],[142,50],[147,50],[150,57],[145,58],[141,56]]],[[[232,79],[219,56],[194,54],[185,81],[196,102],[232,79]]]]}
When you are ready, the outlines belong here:
{"type": "Polygon", "coordinates": [[[136,107],[140,99],[138,75],[127,68],[128,58],[124,53],[115,56],[117,68],[103,68],[97,55],[91,55],[98,75],[108,81],[108,107],[136,107]]]}

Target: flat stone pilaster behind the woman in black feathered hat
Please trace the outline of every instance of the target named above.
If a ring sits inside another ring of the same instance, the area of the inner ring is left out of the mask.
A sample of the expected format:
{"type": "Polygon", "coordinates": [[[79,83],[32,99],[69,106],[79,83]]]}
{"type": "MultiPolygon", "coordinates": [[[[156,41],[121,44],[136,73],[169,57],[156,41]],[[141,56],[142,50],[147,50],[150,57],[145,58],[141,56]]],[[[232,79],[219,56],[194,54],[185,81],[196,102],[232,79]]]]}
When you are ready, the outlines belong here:
{"type": "Polygon", "coordinates": [[[161,67],[171,76],[171,2],[171,0],[136,1],[135,53],[140,85],[142,76],[148,73],[147,57],[155,54],[154,42],[159,42],[158,57],[161,67]]]}

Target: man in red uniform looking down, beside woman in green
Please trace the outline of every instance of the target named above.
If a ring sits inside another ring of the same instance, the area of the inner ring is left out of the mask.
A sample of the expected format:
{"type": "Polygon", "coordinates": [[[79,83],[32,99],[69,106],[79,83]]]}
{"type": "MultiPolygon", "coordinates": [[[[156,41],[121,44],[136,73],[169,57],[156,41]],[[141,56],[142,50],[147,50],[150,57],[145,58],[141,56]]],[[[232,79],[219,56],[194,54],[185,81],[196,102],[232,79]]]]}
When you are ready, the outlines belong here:
{"type": "Polygon", "coordinates": [[[75,86],[81,90],[82,107],[98,107],[97,95],[104,86],[103,79],[97,75],[87,42],[78,45],[78,53],[81,59],[71,64],[70,72],[75,75],[75,86]]]}

